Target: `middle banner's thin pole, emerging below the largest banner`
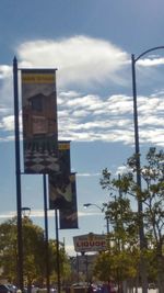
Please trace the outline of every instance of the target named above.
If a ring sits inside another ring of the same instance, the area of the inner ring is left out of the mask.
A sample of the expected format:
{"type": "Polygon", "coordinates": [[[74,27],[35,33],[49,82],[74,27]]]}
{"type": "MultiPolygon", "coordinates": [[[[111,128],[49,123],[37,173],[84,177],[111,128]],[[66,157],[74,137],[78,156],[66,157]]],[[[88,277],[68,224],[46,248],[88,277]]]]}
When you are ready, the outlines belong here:
{"type": "Polygon", "coordinates": [[[47,280],[47,293],[49,293],[50,285],[49,285],[49,246],[48,246],[48,216],[47,216],[46,174],[43,174],[43,182],[44,182],[44,210],[45,210],[46,280],[47,280]]]}

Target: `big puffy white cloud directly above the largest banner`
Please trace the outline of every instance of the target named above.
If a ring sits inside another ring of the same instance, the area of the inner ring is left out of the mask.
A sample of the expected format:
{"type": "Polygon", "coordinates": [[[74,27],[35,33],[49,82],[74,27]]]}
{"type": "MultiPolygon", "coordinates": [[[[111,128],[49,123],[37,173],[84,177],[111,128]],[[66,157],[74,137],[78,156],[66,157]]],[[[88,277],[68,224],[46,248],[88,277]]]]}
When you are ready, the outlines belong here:
{"type": "MultiPolygon", "coordinates": [[[[58,68],[59,87],[92,84],[106,80],[126,82],[119,70],[128,55],[112,43],[83,35],[70,38],[26,42],[17,48],[20,66],[58,68]]],[[[95,84],[94,84],[95,86],[95,84]]]]}

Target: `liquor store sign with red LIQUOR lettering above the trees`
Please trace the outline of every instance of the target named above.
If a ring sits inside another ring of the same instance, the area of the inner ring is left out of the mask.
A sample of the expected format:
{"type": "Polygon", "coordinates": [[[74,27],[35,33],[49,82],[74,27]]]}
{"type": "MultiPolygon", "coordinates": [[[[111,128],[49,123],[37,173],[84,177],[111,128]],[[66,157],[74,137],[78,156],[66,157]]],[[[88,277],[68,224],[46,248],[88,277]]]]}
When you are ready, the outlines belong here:
{"type": "Polygon", "coordinates": [[[73,237],[77,252],[103,251],[107,249],[105,235],[86,234],[73,237]]]}

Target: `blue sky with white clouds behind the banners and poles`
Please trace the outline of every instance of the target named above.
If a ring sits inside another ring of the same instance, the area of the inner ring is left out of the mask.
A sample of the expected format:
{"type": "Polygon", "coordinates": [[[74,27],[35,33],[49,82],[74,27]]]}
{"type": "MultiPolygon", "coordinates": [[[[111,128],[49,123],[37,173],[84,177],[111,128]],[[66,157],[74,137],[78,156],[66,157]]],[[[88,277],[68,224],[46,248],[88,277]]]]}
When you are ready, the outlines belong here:
{"type": "MultiPolygon", "coordinates": [[[[59,238],[73,255],[73,236],[106,232],[99,209],[83,209],[84,203],[102,207],[109,200],[99,185],[102,170],[121,173],[134,153],[131,54],[138,57],[164,45],[164,2],[1,0],[0,14],[0,221],[16,214],[15,56],[20,69],[58,69],[58,135],[71,140],[79,211],[79,229],[59,230],[59,238]]],[[[136,70],[144,157],[149,147],[164,147],[164,49],[145,54],[136,70]]],[[[21,113],[21,89],[19,95],[21,113]]],[[[22,174],[21,182],[22,205],[31,207],[32,219],[44,228],[43,177],[22,174]]],[[[48,215],[49,238],[55,238],[54,211],[48,215]]]]}

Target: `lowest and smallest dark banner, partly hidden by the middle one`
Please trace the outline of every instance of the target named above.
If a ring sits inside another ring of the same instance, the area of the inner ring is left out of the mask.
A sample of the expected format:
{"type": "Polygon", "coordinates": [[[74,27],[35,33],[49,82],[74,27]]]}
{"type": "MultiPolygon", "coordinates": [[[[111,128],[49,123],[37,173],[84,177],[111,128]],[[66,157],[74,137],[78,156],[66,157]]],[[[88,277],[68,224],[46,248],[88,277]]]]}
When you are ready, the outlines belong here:
{"type": "Polygon", "coordinates": [[[75,173],[71,173],[72,202],[69,209],[59,210],[60,229],[78,228],[75,173]]]}

